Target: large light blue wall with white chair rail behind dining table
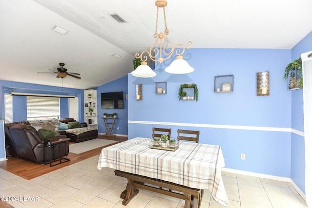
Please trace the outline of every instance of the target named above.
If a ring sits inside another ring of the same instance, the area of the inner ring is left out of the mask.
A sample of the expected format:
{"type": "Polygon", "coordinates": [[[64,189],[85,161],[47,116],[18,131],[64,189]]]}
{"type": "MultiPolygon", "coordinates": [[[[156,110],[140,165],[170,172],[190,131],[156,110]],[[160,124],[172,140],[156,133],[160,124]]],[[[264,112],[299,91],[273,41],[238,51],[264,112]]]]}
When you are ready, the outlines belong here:
{"type": "Polygon", "coordinates": [[[291,93],[283,72],[291,50],[188,49],[184,58],[195,68],[171,75],[156,63],[157,76],[128,75],[128,136],[151,137],[154,126],[200,131],[201,143],[220,145],[226,168],[291,176],[291,93]],[[256,73],[270,72],[270,95],[256,96],[256,73]],[[233,93],[215,93],[217,75],[234,75],[233,93]],[[155,94],[155,82],[168,82],[166,95],[155,94]],[[196,101],[178,101],[180,84],[195,83],[196,101]],[[137,101],[136,84],[143,84],[137,101]],[[170,122],[170,123],[166,123],[170,122]],[[240,159],[244,153],[245,160],[240,159]]]}

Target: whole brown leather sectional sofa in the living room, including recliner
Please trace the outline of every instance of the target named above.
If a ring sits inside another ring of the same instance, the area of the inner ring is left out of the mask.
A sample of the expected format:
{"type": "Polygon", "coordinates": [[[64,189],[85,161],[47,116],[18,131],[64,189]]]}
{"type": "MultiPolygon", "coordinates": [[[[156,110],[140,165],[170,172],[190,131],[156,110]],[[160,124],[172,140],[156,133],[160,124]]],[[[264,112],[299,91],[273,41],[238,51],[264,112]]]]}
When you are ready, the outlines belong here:
{"type": "MultiPolygon", "coordinates": [[[[60,134],[56,139],[70,138],[71,142],[82,142],[98,137],[97,129],[88,127],[86,123],[79,123],[73,118],[28,120],[8,123],[4,124],[6,155],[43,163],[43,139],[40,130],[42,130],[44,126],[47,126],[47,124],[52,128],[50,131],[54,130],[53,132],[58,132],[60,134]],[[66,125],[68,125],[67,128],[60,128],[60,126],[63,127],[66,125]],[[72,125],[72,127],[70,127],[70,125],[72,125]]],[[[58,158],[58,146],[56,148],[55,156],[58,158]]],[[[67,155],[68,151],[69,141],[62,143],[61,157],[67,155]]],[[[46,151],[45,156],[49,156],[49,151],[46,151]]]]}

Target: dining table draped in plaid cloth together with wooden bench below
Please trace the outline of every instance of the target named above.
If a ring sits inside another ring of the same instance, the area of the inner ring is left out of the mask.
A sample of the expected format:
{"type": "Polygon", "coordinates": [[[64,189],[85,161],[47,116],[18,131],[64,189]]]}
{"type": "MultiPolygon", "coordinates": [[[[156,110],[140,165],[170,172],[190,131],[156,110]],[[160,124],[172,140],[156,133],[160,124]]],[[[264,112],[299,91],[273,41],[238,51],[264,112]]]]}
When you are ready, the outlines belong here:
{"type": "Polygon", "coordinates": [[[217,203],[228,205],[221,176],[225,163],[220,146],[178,141],[178,148],[168,151],[151,148],[150,141],[136,137],[101,150],[98,169],[115,169],[115,175],[128,180],[120,194],[123,205],[140,188],[185,199],[186,208],[199,207],[203,190],[208,189],[217,203]]]}

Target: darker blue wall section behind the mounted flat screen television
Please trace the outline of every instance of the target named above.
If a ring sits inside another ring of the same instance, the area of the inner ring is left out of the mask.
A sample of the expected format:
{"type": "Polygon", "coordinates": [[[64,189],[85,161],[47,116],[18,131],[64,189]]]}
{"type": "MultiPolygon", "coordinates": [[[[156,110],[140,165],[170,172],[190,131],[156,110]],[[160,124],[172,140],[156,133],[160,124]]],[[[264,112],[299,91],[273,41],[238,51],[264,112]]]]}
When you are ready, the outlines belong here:
{"type": "Polygon", "coordinates": [[[98,132],[105,133],[104,123],[101,117],[103,113],[113,114],[117,113],[117,119],[113,128],[113,134],[128,134],[128,100],[125,100],[125,94],[128,93],[127,76],[121,77],[117,80],[101,85],[98,90],[98,103],[101,103],[101,93],[123,92],[123,109],[101,109],[98,104],[98,132]],[[117,130],[119,127],[119,130],[117,130]]]}

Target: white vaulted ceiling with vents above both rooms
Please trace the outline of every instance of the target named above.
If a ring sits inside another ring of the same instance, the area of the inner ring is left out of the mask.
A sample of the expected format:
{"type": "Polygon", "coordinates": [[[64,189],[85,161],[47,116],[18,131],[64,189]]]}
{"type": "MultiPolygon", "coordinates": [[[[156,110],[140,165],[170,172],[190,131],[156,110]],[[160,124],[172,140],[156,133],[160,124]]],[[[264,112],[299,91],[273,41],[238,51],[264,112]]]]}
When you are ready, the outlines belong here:
{"type": "MultiPolygon", "coordinates": [[[[291,49],[312,31],[312,0],[168,0],[166,17],[173,43],[291,49]]],[[[154,42],[155,23],[155,0],[0,0],[0,80],[61,86],[55,74],[37,72],[63,62],[81,75],[65,77],[63,87],[97,87],[133,70],[135,53],[154,42]]]]}

